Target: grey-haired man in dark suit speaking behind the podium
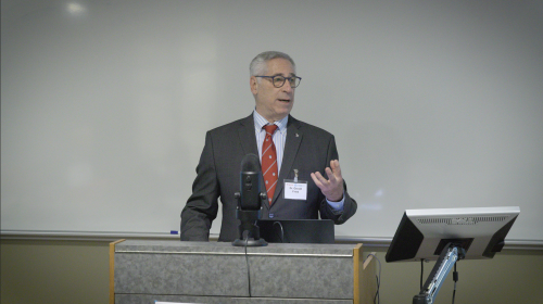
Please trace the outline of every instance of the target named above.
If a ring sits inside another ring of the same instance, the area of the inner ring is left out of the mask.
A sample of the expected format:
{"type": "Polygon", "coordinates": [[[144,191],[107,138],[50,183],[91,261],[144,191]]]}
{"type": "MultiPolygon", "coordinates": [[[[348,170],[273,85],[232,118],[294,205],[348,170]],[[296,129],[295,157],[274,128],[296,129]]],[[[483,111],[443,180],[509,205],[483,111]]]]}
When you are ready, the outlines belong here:
{"type": "MultiPolygon", "coordinates": [[[[262,151],[266,125],[277,125],[268,136],[273,136],[275,143],[278,177],[275,191],[272,188],[270,192],[266,185],[269,202],[263,203],[262,218],[317,219],[320,214],[320,218],[343,224],[356,212],[356,202],[349,197],[341,176],[333,136],[290,116],[294,90],[301,80],[295,75],[293,60],[281,52],[264,52],[251,62],[250,73],[255,111],[245,118],[207,131],[192,195],[181,213],[182,241],[209,240],[219,197],[223,223],[218,240],[240,238],[235,198],[240,191],[240,164],[249,153],[260,157],[268,153],[268,149],[262,151]],[[305,182],[302,189],[305,199],[285,187],[286,180],[294,178],[302,185],[305,182]]],[[[267,172],[264,166],[263,170],[267,172]]]]}

